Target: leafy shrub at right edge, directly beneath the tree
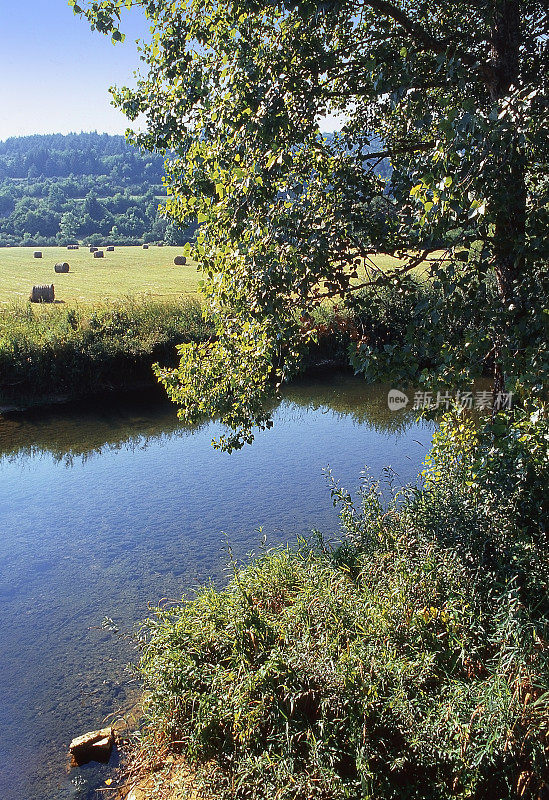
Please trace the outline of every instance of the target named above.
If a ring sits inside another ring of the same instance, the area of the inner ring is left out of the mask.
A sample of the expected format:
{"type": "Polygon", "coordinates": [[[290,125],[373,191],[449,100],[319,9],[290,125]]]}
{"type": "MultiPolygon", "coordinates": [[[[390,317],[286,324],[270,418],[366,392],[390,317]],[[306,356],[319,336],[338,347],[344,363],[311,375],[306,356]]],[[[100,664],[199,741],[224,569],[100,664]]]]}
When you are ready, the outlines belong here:
{"type": "Polygon", "coordinates": [[[479,572],[478,585],[513,584],[528,613],[549,619],[549,418],[536,401],[477,430],[446,417],[434,436],[412,512],[479,572]],[[505,435],[503,435],[505,434],[505,435]]]}

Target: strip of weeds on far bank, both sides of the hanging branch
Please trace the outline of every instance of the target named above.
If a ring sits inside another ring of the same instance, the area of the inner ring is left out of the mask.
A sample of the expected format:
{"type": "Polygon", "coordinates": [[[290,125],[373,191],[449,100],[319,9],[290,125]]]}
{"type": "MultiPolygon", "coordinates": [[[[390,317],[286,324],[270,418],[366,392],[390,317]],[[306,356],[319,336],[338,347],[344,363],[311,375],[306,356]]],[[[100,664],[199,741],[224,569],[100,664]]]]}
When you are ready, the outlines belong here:
{"type": "MultiPolygon", "coordinates": [[[[382,288],[363,293],[360,306],[341,314],[321,308],[315,341],[303,352],[301,370],[322,362],[348,365],[357,347],[368,347],[377,379],[377,353],[391,349],[399,358],[407,328],[416,333],[415,350],[402,352],[416,369],[433,367],[441,342],[431,335],[430,315],[438,313],[439,293],[410,279],[407,291],[382,288]]],[[[444,340],[459,343],[474,335],[480,321],[449,315],[444,340]]],[[[197,299],[121,299],[95,310],[19,303],[0,309],[0,405],[74,398],[105,389],[155,382],[152,365],[173,366],[178,344],[201,342],[214,333],[197,299]]],[[[380,375],[382,369],[379,370],[380,375]]],[[[411,376],[413,377],[413,376],[411,376]]]]}

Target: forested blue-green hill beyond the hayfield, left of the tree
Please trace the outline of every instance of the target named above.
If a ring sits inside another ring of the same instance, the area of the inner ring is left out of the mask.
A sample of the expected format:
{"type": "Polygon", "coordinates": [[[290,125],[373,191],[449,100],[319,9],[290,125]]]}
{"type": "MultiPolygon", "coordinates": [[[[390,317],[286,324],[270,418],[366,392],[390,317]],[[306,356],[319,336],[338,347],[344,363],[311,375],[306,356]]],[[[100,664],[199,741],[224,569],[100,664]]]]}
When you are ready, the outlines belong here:
{"type": "Polygon", "coordinates": [[[177,244],[158,213],[162,156],[122,136],[71,133],[0,142],[0,245],[177,244]]]}

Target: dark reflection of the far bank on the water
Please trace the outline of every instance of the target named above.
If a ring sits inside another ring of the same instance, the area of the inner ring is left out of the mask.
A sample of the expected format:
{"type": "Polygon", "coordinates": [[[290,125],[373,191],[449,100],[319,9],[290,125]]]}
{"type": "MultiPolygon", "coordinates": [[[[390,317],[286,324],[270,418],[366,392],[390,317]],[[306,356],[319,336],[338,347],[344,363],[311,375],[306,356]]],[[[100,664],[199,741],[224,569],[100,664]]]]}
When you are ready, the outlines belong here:
{"type": "MultiPolygon", "coordinates": [[[[388,388],[346,373],[327,373],[321,383],[301,379],[284,387],[272,411],[283,402],[287,417],[295,406],[332,412],[380,433],[402,433],[415,423],[417,412],[389,411],[388,388]]],[[[70,466],[75,458],[85,461],[109,451],[144,449],[152,442],[188,436],[206,424],[182,425],[173,404],[155,390],[11,412],[0,415],[0,462],[49,453],[70,466]]]]}

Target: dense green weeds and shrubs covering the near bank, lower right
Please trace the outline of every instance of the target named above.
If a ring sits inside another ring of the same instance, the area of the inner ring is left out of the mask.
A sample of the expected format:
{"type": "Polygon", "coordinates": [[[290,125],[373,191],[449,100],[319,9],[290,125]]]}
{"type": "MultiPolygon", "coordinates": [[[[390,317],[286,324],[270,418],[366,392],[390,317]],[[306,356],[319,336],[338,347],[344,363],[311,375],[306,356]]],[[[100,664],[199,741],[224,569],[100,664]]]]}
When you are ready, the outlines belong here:
{"type": "Polygon", "coordinates": [[[547,414],[493,433],[445,419],[389,509],[375,483],[357,502],[333,484],[337,546],[266,552],[156,610],[144,797],[187,797],[189,767],[218,800],[547,797],[547,414]]]}

